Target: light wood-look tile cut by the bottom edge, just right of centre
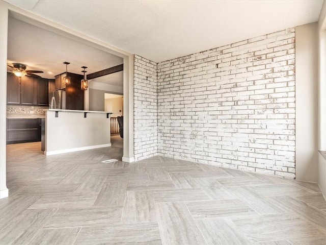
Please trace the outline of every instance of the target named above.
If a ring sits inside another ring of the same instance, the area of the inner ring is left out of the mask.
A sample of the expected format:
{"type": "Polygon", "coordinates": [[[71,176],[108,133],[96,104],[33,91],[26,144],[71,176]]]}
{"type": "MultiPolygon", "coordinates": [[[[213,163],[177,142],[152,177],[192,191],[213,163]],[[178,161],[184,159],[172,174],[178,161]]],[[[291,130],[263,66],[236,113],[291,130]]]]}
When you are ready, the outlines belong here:
{"type": "Polygon", "coordinates": [[[155,206],[165,245],[207,244],[184,203],[156,203],[155,206]]]}

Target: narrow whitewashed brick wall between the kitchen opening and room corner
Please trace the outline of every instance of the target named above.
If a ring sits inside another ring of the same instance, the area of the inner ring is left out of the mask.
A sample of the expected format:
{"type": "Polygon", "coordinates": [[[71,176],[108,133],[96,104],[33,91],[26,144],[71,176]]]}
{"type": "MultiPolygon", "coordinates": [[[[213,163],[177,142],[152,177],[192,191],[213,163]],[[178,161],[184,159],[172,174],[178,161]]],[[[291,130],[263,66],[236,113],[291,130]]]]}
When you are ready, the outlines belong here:
{"type": "Polygon", "coordinates": [[[157,155],[157,64],[134,56],[134,159],[157,155]]]}

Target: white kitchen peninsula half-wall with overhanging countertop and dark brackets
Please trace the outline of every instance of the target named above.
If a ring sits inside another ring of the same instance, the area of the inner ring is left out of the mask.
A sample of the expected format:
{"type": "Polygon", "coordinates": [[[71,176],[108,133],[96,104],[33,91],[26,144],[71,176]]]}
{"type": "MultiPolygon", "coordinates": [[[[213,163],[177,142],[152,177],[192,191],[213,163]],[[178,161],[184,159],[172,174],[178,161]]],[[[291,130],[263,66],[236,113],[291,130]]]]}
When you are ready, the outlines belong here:
{"type": "Polygon", "coordinates": [[[111,112],[45,110],[45,155],[111,146],[111,112]]]}

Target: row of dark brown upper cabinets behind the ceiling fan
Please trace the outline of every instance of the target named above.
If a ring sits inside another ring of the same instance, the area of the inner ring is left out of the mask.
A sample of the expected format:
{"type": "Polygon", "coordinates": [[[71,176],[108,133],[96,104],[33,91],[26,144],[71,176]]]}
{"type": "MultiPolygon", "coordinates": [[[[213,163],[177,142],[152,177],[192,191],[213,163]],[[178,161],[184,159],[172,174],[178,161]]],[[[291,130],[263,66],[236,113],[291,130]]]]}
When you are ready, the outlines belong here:
{"type": "Polygon", "coordinates": [[[48,106],[48,83],[44,78],[7,73],[7,104],[48,106]]]}

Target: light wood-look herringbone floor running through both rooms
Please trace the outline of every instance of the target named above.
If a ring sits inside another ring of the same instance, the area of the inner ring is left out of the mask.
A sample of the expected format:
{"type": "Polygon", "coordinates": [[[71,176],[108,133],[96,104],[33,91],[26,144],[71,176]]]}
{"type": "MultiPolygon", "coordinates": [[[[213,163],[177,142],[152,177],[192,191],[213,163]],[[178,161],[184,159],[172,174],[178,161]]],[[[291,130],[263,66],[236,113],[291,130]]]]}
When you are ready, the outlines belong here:
{"type": "Polygon", "coordinates": [[[116,140],[47,157],[8,145],[0,244],[326,244],[316,184],[159,156],[101,163],[121,160],[116,140]]]}

